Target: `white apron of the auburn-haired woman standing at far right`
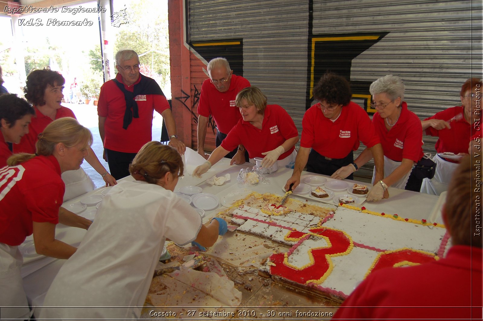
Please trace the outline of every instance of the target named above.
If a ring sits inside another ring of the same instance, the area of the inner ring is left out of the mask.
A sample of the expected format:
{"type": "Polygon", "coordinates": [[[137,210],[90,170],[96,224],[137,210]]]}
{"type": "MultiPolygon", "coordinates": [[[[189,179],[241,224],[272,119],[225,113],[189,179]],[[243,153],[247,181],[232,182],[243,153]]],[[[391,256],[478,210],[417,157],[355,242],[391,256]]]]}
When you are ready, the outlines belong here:
{"type": "Polygon", "coordinates": [[[430,195],[441,195],[442,192],[448,190],[448,183],[451,181],[451,177],[459,164],[448,162],[438,156],[438,154],[433,157],[433,162],[436,163],[434,177],[423,180],[420,192],[430,195]]]}

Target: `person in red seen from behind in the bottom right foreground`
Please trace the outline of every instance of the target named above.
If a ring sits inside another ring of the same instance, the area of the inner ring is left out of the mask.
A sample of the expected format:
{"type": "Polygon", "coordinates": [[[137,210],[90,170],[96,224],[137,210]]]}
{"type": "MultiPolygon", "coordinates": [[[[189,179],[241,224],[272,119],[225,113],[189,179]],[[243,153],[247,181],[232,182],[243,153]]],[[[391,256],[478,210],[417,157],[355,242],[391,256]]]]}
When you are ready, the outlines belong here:
{"type": "Polygon", "coordinates": [[[374,271],[332,320],[482,320],[479,169],[466,156],[456,168],[442,215],[453,246],[444,258],[374,271]]]}

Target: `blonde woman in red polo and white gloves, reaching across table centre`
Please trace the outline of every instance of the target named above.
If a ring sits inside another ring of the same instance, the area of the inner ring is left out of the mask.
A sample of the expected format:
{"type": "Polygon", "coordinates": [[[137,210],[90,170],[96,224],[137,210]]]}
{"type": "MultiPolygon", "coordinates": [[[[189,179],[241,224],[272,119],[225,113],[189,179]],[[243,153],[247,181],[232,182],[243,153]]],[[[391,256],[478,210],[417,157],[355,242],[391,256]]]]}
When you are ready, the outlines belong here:
{"type": "MultiPolygon", "coordinates": [[[[200,177],[226,154],[243,145],[250,159],[261,157],[262,167],[275,162],[284,167],[295,161],[298,131],[290,115],[279,105],[267,105],[267,97],[257,87],[242,89],[235,99],[241,119],[233,127],[203,165],[196,167],[193,175],[200,177]]],[[[237,153],[244,153],[239,149],[237,153]]],[[[234,160],[230,162],[230,165],[234,160]]]]}

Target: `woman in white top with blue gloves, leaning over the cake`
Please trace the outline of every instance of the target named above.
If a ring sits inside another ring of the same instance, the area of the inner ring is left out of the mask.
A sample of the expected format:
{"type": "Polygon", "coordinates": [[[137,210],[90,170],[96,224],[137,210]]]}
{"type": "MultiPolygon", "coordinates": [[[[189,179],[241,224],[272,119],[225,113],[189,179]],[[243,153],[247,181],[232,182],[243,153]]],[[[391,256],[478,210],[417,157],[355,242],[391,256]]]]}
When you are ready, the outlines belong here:
{"type": "Polygon", "coordinates": [[[44,306],[56,308],[43,309],[41,318],[139,319],[165,240],[210,247],[226,232],[225,221],[203,225],[198,212],[172,192],[183,175],[176,149],[150,141],[129,171],[135,181],[119,182],[104,197],[46,294],[44,306]]]}

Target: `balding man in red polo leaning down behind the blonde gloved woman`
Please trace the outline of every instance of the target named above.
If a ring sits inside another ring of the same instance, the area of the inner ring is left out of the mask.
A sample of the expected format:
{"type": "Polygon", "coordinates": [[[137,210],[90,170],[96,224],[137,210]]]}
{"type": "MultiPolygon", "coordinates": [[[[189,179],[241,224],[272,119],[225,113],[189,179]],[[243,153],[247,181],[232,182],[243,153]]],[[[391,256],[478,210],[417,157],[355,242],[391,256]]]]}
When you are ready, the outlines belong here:
{"type": "MultiPolygon", "coordinates": [[[[208,63],[209,79],[201,85],[198,103],[198,154],[208,159],[204,152],[208,117],[212,115],[216,124],[216,147],[227,137],[227,134],[241,119],[235,104],[238,92],[250,86],[248,80],[233,74],[227,59],[213,58],[208,63]]],[[[225,157],[231,158],[231,164],[242,164],[248,161],[248,154],[242,145],[235,148],[225,157]]]]}

